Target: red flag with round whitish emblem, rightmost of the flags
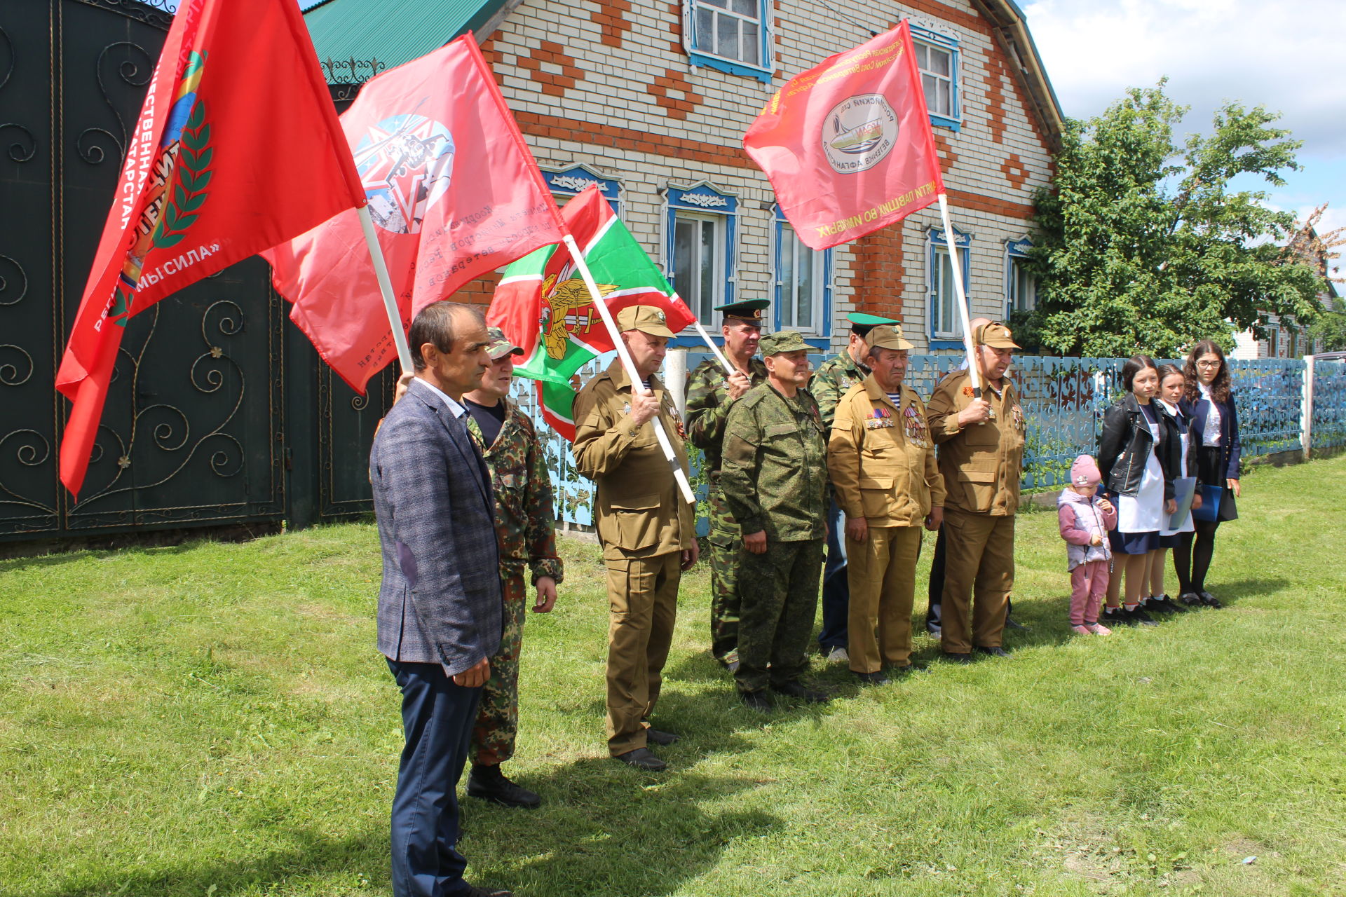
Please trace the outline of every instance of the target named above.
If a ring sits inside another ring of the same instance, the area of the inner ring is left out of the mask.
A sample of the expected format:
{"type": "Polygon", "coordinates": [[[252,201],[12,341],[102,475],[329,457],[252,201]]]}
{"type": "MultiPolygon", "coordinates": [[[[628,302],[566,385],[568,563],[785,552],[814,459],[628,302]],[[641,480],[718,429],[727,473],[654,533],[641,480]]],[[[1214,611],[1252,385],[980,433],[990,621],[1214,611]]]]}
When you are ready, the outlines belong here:
{"type": "Polygon", "coordinates": [[[743,148],[812,249],[933,203],[944,182],[907,22],[791,78],[748,126],[743,148]]]}

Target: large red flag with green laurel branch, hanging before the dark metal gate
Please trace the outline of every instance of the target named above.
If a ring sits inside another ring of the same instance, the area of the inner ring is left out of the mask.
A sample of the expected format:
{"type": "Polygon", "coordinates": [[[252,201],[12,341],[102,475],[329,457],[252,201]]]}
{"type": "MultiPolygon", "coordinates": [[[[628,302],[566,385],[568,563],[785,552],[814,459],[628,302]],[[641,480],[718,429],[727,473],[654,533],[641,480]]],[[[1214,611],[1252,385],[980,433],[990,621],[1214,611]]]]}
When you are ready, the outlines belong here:
{"type": "Polygon", "coordinates": [[[365,202],[293,0],[184,0],[140,110],[57,389],[79,492],[127,319],[365,202]]]}

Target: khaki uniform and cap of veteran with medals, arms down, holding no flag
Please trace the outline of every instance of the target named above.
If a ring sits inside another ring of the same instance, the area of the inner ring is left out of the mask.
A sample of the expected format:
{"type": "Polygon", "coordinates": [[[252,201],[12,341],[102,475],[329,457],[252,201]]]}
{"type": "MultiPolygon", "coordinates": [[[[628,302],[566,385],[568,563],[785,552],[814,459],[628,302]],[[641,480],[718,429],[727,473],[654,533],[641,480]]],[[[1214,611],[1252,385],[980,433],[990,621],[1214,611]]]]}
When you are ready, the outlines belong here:
{"type": "MultiPolygon", "coordinates": [[[[871,347],[913,348],[892,327],[875,327],[871,347]]],[[[847,538],[851,584],[851,670],[911,664],[911,602],[922,524],[944,507],[925,403],[902,386],[894,402],[871,374],[837,403],[828,440],[832,488],[847,519],[864,518],[864,542],[847,538]]]]}

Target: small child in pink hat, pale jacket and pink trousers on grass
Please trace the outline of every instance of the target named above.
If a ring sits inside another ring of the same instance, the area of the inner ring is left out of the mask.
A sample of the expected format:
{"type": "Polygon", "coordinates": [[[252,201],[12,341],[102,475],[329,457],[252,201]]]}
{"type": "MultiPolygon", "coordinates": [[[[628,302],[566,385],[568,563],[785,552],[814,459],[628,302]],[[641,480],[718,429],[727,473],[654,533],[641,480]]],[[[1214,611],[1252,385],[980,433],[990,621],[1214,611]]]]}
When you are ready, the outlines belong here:
{"type": "Polygon", "coordinates": [[[1070,485],[1057,499],[1070,565],[1070,629],[1079,635],[1112,635],[1112,629],[1098,623],[1098,608],[1108,590],[1112,566],[1108,530],[1117,529],[1117,508],[1097,494],[1101,479],[1098,464],[1081,455],[1070,465],[1070,485]]]}

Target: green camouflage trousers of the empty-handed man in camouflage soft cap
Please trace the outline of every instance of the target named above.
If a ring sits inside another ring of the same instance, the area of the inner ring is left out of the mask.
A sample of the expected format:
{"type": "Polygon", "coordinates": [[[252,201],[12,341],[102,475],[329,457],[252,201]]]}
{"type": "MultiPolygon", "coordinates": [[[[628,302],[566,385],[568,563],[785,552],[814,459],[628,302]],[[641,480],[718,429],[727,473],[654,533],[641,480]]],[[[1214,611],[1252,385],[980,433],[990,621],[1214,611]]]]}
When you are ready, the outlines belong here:
{"type": "Polygon", "coordinates": [[[739,554],[739,691],[797,682],[818,609],[824,539],[767,542],[766,554],[739,554]]]}

